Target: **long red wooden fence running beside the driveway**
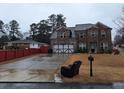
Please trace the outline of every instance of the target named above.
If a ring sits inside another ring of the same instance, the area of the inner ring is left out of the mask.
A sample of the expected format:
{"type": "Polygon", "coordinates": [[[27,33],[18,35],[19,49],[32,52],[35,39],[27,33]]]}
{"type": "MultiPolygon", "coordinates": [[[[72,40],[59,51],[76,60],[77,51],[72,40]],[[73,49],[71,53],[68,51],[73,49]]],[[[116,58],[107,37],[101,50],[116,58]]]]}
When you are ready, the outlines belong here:
{"type": "Polygon", "coordinates": [[[48,47],[41,47],[39,49],[31,48],[15,51],[0,51],[0,62],[38,53],[48,53],[48,47]]]}

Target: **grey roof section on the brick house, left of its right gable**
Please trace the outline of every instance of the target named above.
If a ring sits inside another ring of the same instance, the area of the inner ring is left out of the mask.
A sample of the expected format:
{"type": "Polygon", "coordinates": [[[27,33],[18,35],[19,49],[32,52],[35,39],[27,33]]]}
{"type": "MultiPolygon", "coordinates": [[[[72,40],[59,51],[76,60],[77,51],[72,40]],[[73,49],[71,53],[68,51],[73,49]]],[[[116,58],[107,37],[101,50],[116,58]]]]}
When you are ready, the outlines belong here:
{"type": "MultiPolygon", "coordinates": [[[[96,27],[94,24],[77,24],[75,30],[87,30],[91,27],[96,27]]],[[[97,27],[96,27],[97,28],[97,27]]]]}

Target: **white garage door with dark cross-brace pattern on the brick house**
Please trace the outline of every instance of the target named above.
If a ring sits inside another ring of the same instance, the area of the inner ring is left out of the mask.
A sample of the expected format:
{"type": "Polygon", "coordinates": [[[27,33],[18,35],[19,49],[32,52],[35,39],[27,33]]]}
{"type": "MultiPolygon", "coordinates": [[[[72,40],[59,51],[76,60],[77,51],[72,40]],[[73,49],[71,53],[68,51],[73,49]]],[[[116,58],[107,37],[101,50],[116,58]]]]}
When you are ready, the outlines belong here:
{"type": "Polygon", "coordinates": [[[54,53],[73,53],[74,47],[73,45],[54,45],[53,52],[54,53]]]}

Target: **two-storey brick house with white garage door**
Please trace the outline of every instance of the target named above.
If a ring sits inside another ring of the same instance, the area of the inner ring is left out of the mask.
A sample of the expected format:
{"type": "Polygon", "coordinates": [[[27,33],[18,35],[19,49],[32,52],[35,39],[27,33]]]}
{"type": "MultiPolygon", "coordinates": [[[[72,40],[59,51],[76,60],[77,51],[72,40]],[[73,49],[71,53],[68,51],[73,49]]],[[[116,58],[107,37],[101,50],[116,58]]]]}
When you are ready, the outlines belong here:
{"type": "Polygon", "coordinates": [[[112,48],[112,28],[101,22],[77,24],[75,27],[60,27],[51,36],[54,53],[73,53],[79,48],[101,52],[112,48]]]}

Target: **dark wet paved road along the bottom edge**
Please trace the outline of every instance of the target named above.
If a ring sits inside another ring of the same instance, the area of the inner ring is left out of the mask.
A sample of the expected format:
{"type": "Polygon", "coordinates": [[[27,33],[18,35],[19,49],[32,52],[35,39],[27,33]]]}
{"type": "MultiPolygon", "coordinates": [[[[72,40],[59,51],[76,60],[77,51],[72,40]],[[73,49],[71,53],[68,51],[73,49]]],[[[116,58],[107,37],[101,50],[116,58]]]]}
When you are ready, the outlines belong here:
{"type": "Polygon", "coordinates": [[[124,83],[0,83],[0,89],[124,89],[124,83]]]}

